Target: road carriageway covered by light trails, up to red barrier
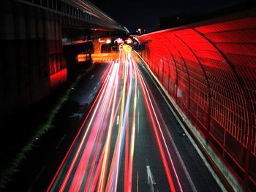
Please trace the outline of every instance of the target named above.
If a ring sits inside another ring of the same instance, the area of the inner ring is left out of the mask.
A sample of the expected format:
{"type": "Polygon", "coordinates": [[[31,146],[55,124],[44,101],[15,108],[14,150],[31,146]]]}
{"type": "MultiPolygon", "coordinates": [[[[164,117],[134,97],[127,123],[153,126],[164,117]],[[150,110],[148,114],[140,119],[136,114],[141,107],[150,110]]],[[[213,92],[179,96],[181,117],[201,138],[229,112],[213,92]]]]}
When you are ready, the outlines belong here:
{"type": "Polygon", "coordinates": [[[48,191],[221,191],[130,47],[101,79],[48,191]]]}

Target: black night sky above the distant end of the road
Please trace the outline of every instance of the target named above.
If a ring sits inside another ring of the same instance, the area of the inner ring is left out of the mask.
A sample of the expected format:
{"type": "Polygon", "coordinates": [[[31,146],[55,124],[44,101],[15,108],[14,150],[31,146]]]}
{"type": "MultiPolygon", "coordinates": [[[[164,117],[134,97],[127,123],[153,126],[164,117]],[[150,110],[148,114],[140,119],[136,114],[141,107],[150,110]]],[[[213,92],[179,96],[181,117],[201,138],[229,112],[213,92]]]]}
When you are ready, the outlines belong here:
{"type": "Polygon", "coordinates": [[[163,16],[212,10],[240,1],[244,0],[91,0],[130,32],[138,28],[146,32],[155,31],[159,28],[159,18],[163,16]]]}

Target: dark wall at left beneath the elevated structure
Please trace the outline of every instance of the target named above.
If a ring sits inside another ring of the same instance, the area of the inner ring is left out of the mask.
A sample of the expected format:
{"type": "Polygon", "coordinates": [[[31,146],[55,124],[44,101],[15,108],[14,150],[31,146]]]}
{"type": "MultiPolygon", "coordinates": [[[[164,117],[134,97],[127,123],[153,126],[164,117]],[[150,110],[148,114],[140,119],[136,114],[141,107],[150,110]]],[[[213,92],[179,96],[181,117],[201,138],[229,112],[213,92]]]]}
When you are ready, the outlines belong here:
{"type": "Polygon", "coordinates": [[[1,1],[0,115],[50,93],[50,75],[65,69],[56,14],[1,1]]]}

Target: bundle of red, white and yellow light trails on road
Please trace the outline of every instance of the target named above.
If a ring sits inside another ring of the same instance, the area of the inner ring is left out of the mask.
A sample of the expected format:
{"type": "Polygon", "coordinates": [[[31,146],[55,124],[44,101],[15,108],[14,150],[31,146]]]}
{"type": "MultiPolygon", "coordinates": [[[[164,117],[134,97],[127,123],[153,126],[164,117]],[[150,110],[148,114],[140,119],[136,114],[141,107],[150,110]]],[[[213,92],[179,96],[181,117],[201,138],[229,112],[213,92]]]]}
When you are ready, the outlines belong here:
{"type": "Polygon", "coordinates": [[[182,191],[148,88],[127,45],[103,74],[102,88],[48,191],[139,191],[134,161],[136,138],[141,135],[140,93],[140,104],[145,104],[150,120],[147,123],[153,128],[170,191],[176,191],[176,186],[182,191]]]}

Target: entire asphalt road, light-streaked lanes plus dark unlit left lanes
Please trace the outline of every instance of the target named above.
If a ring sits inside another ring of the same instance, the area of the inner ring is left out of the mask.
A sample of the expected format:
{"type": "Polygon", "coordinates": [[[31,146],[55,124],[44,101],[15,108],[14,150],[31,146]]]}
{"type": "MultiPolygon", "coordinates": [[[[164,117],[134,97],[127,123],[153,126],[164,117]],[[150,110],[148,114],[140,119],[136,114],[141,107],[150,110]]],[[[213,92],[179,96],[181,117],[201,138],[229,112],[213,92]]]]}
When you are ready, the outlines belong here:
{"type": "Polygon", "coordinates": [[[105,61],[74,88],[53,142],[42,139],[9,191],[222,191],[140,57],[123,46],[105,61]]]}

